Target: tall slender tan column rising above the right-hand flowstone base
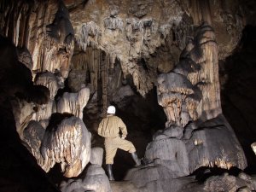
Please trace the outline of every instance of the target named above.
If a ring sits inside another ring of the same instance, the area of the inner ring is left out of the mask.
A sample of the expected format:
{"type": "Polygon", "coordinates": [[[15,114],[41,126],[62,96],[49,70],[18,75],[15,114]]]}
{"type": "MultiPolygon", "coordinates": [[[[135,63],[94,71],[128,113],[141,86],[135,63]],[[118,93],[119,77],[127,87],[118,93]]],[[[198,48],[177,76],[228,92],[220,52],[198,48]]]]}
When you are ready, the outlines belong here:
{"type": "Polygon", "coordinates": [[[190,56],[201,66],[199,82],[202,83],[202,106],[198,111],[201,119],[212,119],[221,113],[220,92],[218,83],[218,46],[215,34],[208,25],[202,25],[195,34],[195,46],[190,56]],[[204,112],[204,114],[202,114],[204,112]]]}

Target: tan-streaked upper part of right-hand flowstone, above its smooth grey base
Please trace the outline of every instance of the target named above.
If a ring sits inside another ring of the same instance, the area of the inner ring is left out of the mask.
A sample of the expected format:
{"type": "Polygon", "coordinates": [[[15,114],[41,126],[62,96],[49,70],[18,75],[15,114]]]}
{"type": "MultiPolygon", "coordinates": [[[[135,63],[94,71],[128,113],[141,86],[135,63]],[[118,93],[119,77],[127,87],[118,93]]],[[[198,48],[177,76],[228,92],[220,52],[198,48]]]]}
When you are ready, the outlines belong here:
{"type": "Polygon", "coordinates": [[[171,73],[160,74],[157,86],[158,102],[169,124],[184,127],[189,120],[212,119],[221,113],[218,46],[211,26],[197,29],[177,66],[171,73]]]}

